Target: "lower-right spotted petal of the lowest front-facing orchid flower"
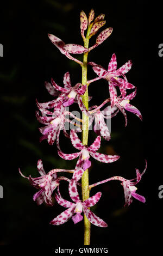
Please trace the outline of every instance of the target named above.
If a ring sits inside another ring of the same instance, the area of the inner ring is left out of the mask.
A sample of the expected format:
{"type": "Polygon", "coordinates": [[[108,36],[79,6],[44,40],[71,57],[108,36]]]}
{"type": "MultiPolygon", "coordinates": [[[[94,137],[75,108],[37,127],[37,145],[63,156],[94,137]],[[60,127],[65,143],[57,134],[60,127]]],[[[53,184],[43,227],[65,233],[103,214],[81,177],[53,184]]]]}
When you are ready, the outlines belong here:
{"type": "Polygon", "coordinates": [[[96,225],[98,227],[108,227],[108,224],[106,224],[106,222],[104,222],[101,218],[97,217],[95,214],[93,214],[92,211],[90,211],[89,209],[87,209],[85,206],[83,207],[83,212],[86,215],[87,219],[93,224],[96,225]]]}

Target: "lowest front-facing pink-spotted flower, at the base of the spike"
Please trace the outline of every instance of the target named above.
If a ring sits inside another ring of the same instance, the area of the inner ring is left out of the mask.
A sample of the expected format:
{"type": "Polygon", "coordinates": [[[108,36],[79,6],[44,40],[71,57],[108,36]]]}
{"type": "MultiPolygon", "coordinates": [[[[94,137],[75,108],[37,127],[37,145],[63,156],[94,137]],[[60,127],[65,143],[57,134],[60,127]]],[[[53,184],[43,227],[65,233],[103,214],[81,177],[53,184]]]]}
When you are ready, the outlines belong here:
{"type": "Polygon", "coordinates": [[[58,204],[68,209],[55,217],[50,222],[50,224],[61,225],[70,220],[70,218],[72,218],[72,221],[74,222],[74,224],[76,224],[83,220],[83,216],[81,214],[82,212],[84,212],[87,219],[92,224],[97,225],[98,227],[108,226],[101,218],[97,217],[90,209],[88,209],[89,207],[97,204],[97,202],[101,198],[101,192],[96,193],[94,196],[82,202],[82,200],[80,200],[79,198],[79,193],[77,191],[76,180],[71,179],[71,181],[69,182],[69,194],[74,203],[63,199],[62,197],[58,196],[57,193],[55,193],[55,199],[57,200],[58,204]]]}

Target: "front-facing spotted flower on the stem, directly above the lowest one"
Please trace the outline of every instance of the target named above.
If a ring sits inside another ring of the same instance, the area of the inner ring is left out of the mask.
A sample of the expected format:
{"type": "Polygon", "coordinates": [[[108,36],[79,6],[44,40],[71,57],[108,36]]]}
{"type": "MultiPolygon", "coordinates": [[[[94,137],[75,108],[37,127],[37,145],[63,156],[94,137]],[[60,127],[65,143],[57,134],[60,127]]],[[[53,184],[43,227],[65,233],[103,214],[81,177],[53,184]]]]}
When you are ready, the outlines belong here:
{"type": "Polygon", "coordinates": [[[77,136],[77,133],[74,130],[71,130],[70,132],[70,139],[73,147],[80,151],[78,153],[65,154],[65,153],[62,153],[62,151],[58,150],[58,154],[60,157],[62,157],[65,160],[73,160],[79,156],[79,159],[77,161],[76,168],[73,174],[73,178],[76,178],[76,180],[79,180],[79,178],[81,178],[81,175],[82,175],[81,169],[85,171],[87,168],[91,166],[91,161],[89,161],[90,155],[94,159],[103,163],[115,162],[120,158],[120,156],[117,156],[117,155],[105,155],[105,154],[96,152],[101,145],[101,136],[98,136],[89,147],[87,145],[83,145],[83,143],[80,141],[80,139],[77,136]]]}

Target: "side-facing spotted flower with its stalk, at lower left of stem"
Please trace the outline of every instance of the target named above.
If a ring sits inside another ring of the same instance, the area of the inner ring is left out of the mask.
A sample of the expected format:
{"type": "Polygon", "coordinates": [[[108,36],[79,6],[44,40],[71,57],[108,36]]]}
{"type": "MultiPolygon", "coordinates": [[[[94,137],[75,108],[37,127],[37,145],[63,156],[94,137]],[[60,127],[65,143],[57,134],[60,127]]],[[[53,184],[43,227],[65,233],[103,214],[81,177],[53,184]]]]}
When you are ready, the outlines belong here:
{"type": "Polygon", "coordinates": [[[53,205],[52,202],[52,193],[55,190],[55,188],[58,187],[58,193],[59,193],[59,182],[61,180],[70,181],[70,179],[60,176],[57,178],[58,172],[68,172],[73,173],[74,170],[66,170],[66,169],[53,169],[50,172],[46,174],[45,170],[43,169],[43,164],[41,159],[37,162],[37,170],[40,174],[40,177],[32,178],[30,175],[24,176],[21,173],[21,170],[19,169],[19,172],[23,178],[26,178],[30,181],[31,185],[35,188],[39,189],[38,192],[36,192],[33,196],[33,200],[36,201],[38,205],[42,204],[44,201],[48,205],[53,205]]]}

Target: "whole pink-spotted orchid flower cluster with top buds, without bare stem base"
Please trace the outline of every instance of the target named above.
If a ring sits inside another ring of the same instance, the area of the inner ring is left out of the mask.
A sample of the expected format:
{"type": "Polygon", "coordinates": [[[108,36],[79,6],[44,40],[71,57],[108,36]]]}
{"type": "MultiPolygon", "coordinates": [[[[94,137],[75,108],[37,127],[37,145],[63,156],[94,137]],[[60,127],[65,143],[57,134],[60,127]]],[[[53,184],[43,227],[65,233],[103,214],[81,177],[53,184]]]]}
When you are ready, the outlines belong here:
{"type": "MultiPolygon", "coordinates": [[[[37,170],[40,174],[38,178],[32,178],[30,175],[28,177],[24,176],[19,169],[20,174],[24,178],[28,179],[32,186],[39,189],[39,191],[33,196],[33,199],[37,204],[40,205],[45,202],[47,205],[52,206],[54,204],[52,194],[53,191],[57,189],[57,192],[55,192],[55,199],[58,204],[67,209],[50,222],[53,225],[63,224],[70,218],[72,218],[72,221],[74,224],[76,224],[83,220],[82,212],[84,212],[87,220],[92,224],[97,225],[98,227],[107,227],[107,224],[90,210],[90,207],[97,204],[101,198],[101,192],[96,193],[92,197],[84,198],[83,196],[83,199],[80,199],[77,187],[84,186],[84,182],[81,184],[80,180],[81,178],[83,179],[87,169],[91,166],[91,157],[103,163],[115,162],[120,158],[118,155],[105,155],[97,152],[101,145],[101,137],[103,137],[106,141],[110,141],[111,139],[105,119],[111,119],[112,117],[115,117],[119,111],[121,111],[125,118],[125,126],[127,126],[126,111],[129,111],[137,115],[137,117],[142,120],[140,111],[129,103],[129,101],[136,96],[136,87],[129,83],[126,77],[127,72],[132,66],[131,60],[128,60],[128,62],[122,65],[121,68],[117,69],[116,55],[113,53],[107,70],[99,64],[87,62],[88,53],[97,46],[101,45],[102,42],[104,42],[104,40],[106,40],[112,33],[112,28],[109,27],[104,29],[97,36],[96,44],[88,47],[90,38],[105,25],[104,16],[104,14],[101,14],[94,19],[95,13],[94,10],[91,9],[89,17],[87,18],[84,11],[81,11],[80,32],[84,41],[84,46],[77,44],[65,44],[65,42],[59,39],[57,36],[48,34],[49,39],[60,50],[60,52],[65,54],[67,58],[81,65],[83,70],[82,83],[79,82],[75,86],[72,86],[70,74],[69,72],[66,72],[63,79],[64,87],[58,86],[53,79],[51,80],[51,83],[45,82],[45,87],[48,90],[48,93],[54,98],[52,101],[40,103],[36,100],[37,107],[39,108],[39,111],[36,112],[36,118],[41,124],[45,125],[39,128],[42,134],[40,142],[47,139],[48,143],[53,145],[56,141],[58,154],[60,157],[62,157],[62,159],[73,160],[78,158],[76,167],[71,170],[52,169],[46,174],[45,170],[43,169],[42,161],[39,160],[37,162],[37,170]],[[85,35],[86,29],[87,33],[85,35]],[[84,54],[84,58],[86,60],[81,62],[80,60],[72,57],[71,54],[84,54]],[[84,71],[87,70],[87,65],[90,65],[97,75],[90,81],[87,81],[86,74],[84,73],[84,71]],[[102,79],[108,81],[108,98],[102,102],[101,105],[91,106],[88,108],[84,103],[87,101],[88,105],[88,102],[91,100],[91,97],[88,96],[87,88],[92,82],[102,79]],[[134,89],[133,92],[128,94],[127,91],[131,89],[134,89]],[[73,115],[70,111],[67,111],[66,107],[72,105],[73,103],[78,104],[83,113],[83,119],[77,118],[76,115],[73,115]],[[105,108],[102,110],[103,106],[105,106],[105,108]],[[75,122],[68,118],[68,116],[74,118],[75,122]],[[89,120],[88,125],[85,126],[87,120],[89,120]],[[76,123],[76,121],[79,123],[76,123]],[[87,143],[84,143],[84,139],[83,141],[80,141],[77,132],[82,132],[82,137],[84,137],[86,133],[88,135],[89,127],[93,121],[93,130],[95,131],[97,137],[91,145],[87,145],[87,143]],[[68,133],[66,130],[66,123],[74,125],[73,128],[70,129],[70,133],[68,133]],[[86,130],[85,127],[87,127],[86,130]],[[64,132],[64,135],[67,138],[70,138],[73,147],[78,150],[77,153],[65,154],[62,152],[59,144],[61,130],[64,132]],[[72,178],[68,179],[65,176],[58,176],[59,172],[72,173],[72,178]],[[62,198],[59,190],[60,181],[62,180],[69,183],[68,191],[73,202],[69,202],[62,198]]],[[[89,185],[86,189],[90,191],[91,188],[103,184],[104,182],[118,180],[121,181],[121,185],[124,188],[124,206],[129,206],[133,201],[133,198],[145,203],[145,198],[135,193],[137,189],[135,185],[141,180],[146,168],[147,161],[146,167],[142,173],[136,169],[136,178],[133,180],[127,180],[121,176],[113,176],[106,180],[89,185]]]]}

